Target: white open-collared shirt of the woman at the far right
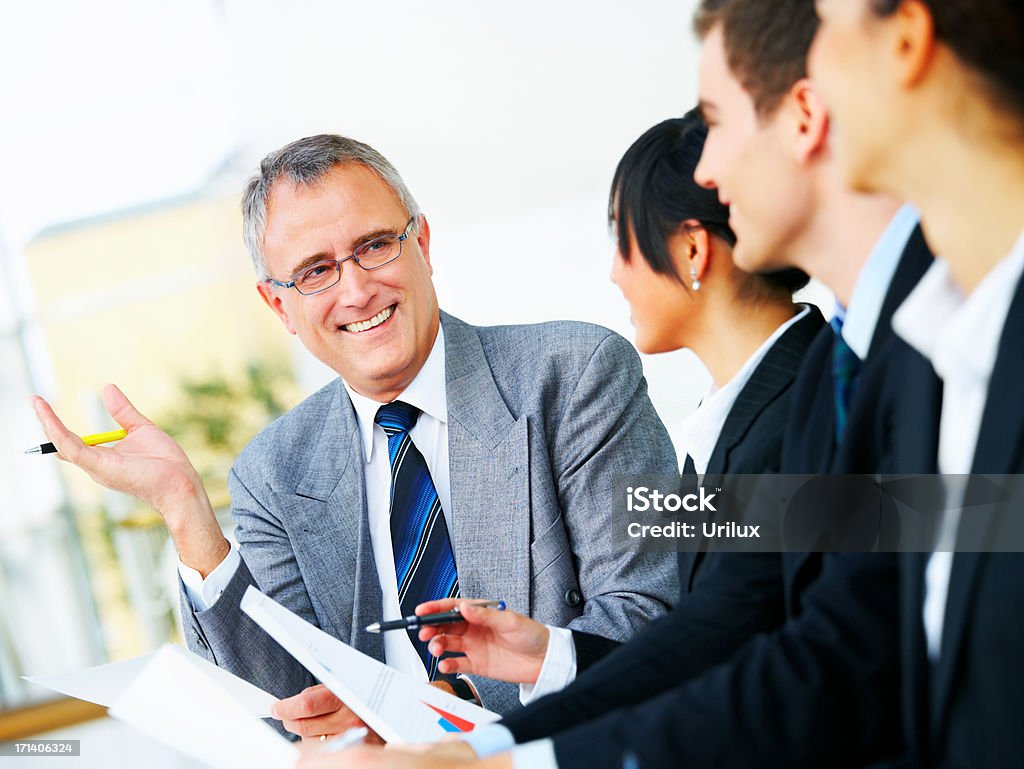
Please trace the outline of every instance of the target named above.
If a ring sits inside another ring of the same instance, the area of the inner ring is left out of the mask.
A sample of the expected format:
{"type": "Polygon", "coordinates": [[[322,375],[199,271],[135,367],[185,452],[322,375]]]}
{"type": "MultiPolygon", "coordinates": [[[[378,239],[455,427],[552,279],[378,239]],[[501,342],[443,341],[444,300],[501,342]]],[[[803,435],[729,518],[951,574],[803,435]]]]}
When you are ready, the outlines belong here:
{"type": "Polygon", "coordinates": [[[936,260],[893,317],[896,333],[931,361],[943,387],[939,472],[947,476],[946,512],[925,569],[922,609],[928,656],[933,661],[942,649],[952,550],[964,496],[963,485],[951,487],[948,481],[954,479],[948,476],[972,470],[1002,327],[1022,272],[1024,234],[969,296],[953,283],[948,266],[936,260]]]}

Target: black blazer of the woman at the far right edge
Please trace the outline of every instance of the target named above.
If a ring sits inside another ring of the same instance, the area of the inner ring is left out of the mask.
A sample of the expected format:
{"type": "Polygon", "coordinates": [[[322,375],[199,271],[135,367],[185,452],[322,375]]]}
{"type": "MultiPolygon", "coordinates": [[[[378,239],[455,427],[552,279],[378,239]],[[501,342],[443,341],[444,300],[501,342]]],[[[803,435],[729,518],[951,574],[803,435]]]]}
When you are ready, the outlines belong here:
{"type": "MultiPolygon", "coordinates": [[[[906,356],[902,378],[905,428],[896,433],[896,461],[907,471],[935,472],[941,385],[932,367],[915,353],[906,356]]],[[[1022,383],[1024,280],[999,340],[973,473],[1024,472],[1022,383]]],[[[968,536],[965,520],[966,514],[961,542],[968,536]]],[[[925,553],[900,560],[903,704],[911,763],[972,769],[1024,766],[1024,555],[953,556],[942,647],[934,667],[922,624],[927,562],[925,553]]]]}

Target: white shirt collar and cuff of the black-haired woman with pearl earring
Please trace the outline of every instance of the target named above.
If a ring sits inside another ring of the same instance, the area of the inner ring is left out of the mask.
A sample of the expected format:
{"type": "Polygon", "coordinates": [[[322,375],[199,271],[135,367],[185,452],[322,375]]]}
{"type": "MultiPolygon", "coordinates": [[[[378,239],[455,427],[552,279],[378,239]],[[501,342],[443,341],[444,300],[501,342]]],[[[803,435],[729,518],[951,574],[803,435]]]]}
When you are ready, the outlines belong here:
{"type": "MultiPolygon", "coordinates": [[[[700,404],[683,421],[679,436],[686,454],[693,460],[698,475],[702,476],[708,471],[708,462],[711,460],[722,427],[725,426],[725,420],[754,371],[761,365],[778,338],[810,311],[809,307],[804,307],[779,326],[723,387],[717,387],[713,383],[700,404]]],[[[571,631],[550,626],[548,630],[550,631],[548,648],[537,683],[519,685],[519,701],[523,704],[564,689],[575,680],[577,656],[571,631]]]]}

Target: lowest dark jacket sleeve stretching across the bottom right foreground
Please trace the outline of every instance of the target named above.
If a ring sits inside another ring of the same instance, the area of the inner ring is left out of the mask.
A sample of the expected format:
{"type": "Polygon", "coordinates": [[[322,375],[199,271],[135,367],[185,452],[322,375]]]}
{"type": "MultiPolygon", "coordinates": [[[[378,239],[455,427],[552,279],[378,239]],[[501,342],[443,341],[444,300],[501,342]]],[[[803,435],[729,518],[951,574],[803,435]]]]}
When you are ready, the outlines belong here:
{"type": "Polygon", "coordinates": [[[891,555],[826,556],[797,617],[686,685],[555,735],[559,765],[618,769],[626,752],[645,767],[714,769],[897,755],[895,569],[891,555]]]}

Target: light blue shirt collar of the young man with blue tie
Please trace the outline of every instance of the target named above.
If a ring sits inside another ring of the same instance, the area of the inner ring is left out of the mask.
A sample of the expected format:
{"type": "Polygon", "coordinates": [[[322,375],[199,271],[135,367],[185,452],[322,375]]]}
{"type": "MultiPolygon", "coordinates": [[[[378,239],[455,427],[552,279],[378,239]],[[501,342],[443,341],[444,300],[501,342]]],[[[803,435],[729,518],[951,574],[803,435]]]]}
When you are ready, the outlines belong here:
{"type": "Polygon", "coordinates": [[[857,275],[850,306],[836,308],[837,317],[843,319],[843,339],[861,360],[867,358],[889,284],[920,221],[913,206],[905,205],[896,213],[857,275]]]}

